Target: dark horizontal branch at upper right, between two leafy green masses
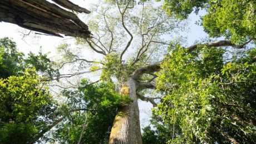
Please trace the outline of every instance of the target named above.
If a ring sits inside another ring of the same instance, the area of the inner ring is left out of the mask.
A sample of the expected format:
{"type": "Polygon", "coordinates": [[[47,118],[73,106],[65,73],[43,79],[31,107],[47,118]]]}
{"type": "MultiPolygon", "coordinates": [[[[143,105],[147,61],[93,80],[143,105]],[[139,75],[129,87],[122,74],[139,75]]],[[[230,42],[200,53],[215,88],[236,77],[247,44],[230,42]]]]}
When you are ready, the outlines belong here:
{"type": "MultiPolygon", "coordinates": [[[[230,46],[230,47],[233,47],[233,48],[241,49],[245,45],[250,43],[252,40],[253,39],[249,39],[247,42],[245,42],[244,44],[241,44],[241,45],[232,44],[232,42],[230,40],[217,40],[217,41],[214,41],[214,42],[207,43],[206,45],[208,45],[209,47],[227,47],[227,46],[230,46]]],[[[192,50],[196,49],[198,47],[198,45],[201,45],[201,44],[193,44],[190,47],[188,47],[188,49],[190,51],[192,51],[192,50]]]]}

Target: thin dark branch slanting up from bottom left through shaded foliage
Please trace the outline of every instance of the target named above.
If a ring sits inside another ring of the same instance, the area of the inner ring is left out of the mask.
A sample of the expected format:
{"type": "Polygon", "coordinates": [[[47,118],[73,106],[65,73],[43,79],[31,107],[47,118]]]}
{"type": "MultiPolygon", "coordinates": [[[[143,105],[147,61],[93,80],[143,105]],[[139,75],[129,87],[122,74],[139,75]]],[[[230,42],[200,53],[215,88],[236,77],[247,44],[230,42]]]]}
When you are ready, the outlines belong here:
{"type": "MultiPolygon", "coordinates": [[[[86,111],[88,109],[73,109],[73,110],[69,110],[67,113],[69,114],[70,112],[74,112],[74,111],[86,111]]],[[[90,110],[92,111],[92,110],[90,110]]],[[[39,138],[41,138],[46,132],[50,131],[52,129],[52,127],[55,127],[58,123],[60,123],[63,119],[65,119],[67,115],[63,115],[62,117],[60,117],[60,119],[56,120],[55,122],[53,122],[52,125],[47,126],[45,129],[43,129],[40,133],[38,133],[38,135],[33,138],[33,140],[31,140],[29,143],[35,143],[39,138]]]]}

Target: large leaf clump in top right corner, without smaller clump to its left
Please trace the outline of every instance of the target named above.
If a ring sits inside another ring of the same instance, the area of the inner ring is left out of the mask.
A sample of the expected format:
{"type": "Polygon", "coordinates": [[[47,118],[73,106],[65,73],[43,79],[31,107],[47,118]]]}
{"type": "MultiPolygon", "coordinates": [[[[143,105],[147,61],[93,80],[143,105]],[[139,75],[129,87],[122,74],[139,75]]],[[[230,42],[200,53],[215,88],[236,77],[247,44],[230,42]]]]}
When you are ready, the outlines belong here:
{"type": "Polygon", "coordinates": [[[210,37],[224,36],[233,43],[244,43],[248,37],[256,38],[256,2],[222,0],[211,4],[203,17],[205,32],[210,37]]]}

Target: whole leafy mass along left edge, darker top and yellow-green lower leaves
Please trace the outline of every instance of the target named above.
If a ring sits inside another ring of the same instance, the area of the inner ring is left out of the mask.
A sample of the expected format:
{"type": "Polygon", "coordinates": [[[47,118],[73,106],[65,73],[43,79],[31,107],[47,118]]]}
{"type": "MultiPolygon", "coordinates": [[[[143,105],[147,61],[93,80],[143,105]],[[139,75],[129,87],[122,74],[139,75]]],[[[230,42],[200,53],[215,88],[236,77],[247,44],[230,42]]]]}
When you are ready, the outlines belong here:
{"type": "Polygon", "coordinates": [[[57,102],[38,76],[54,70],[47,55],[25,58],[9,38],[0,47],[0,143],[26,143],[56,119],[57,102]]]}

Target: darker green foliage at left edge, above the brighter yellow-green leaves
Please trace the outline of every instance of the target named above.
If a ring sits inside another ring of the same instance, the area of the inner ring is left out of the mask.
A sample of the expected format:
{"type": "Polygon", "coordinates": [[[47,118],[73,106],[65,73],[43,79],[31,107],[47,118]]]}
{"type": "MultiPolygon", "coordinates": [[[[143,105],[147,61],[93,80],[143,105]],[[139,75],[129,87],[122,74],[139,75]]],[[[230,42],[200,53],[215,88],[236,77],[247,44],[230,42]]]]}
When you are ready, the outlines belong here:
{"type": "Polygon", "coordinates": [[[8,78],[12,75],[23,75],[25,68],[35,67],[42,76],[53,76],[58,70],[53,69],[51,60],[47,54],[38,55],[29,53],[25,58],[24,54],[18,52],[16,43],[9,38],[0,39],[0,78],[8,78]]]}

